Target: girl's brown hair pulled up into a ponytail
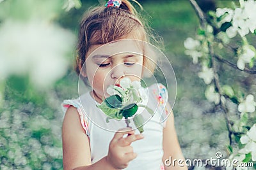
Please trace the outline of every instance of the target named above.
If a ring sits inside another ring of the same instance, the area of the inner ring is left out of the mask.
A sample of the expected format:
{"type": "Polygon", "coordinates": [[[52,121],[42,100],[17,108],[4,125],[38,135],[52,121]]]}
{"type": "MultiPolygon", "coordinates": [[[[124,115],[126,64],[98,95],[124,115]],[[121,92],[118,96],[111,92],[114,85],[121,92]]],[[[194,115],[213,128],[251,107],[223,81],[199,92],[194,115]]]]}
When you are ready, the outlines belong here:
{"type": "MultiPolygon", "coordinates": [[[[77,43],[76,72],[79,75],[91,45],[106,44],[133,35],[135,39],[150,43],[149,27],[140,18],[128,0],[119,8],[97,6],[87,11],[81,20],[77,43]]],[[[154,64],[144,57],[143,66],[154,72],[154,64]]]]}

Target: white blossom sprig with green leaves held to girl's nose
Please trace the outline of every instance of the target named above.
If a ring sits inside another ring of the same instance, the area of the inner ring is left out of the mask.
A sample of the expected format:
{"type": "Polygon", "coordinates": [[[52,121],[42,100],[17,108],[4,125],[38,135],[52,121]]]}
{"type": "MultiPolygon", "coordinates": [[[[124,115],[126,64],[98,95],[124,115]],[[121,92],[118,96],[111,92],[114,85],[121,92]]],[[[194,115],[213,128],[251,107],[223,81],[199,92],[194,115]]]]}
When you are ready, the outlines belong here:
{"type": "Polygon", "coordinates": [[[131,81],[125,77],[120,80],[120,86],[110,85],[107,92],[110,96],[97,105],[108,116],[106,122],[109,123],[109,119],[122,120],[124,118],[127,127],[130,127],[129,117],[132,117],[136,128],[143,132],[142,124],[145,121],[141,114],[136,114],[138,108],[145,108],[152,116],[154,111],[143,104],[143,99],[147,96],[141,89],[140,81],[131,81]]]}

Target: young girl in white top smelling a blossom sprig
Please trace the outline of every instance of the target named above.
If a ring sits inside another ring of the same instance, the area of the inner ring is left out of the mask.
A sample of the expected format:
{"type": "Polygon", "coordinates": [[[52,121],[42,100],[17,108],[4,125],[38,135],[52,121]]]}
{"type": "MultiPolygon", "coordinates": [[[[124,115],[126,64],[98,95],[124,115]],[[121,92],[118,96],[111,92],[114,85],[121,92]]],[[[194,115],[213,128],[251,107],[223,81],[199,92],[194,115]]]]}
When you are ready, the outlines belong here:
{"type": "Polygon", "coordinates": [[[108,97],[109,85],[119,85],[123,78],[140,81],[146,71],[154,71],[152,59],[138,45],[149,37],[131,3],[109,0],[88,11],[80,26],[76,71],[92,91],[63,102],[64,169],[187,169],[173,114],[164,123],[157,119],[163,110],[171,112],[163,85],[148,88],[148,107],[162,108],[143,125],[142,134],[129,127],[120,129],[125,127],[122,120],[107,124],[96,106],[108,97]],[[175,159],[179,165],[164,165],[175,159]]]}

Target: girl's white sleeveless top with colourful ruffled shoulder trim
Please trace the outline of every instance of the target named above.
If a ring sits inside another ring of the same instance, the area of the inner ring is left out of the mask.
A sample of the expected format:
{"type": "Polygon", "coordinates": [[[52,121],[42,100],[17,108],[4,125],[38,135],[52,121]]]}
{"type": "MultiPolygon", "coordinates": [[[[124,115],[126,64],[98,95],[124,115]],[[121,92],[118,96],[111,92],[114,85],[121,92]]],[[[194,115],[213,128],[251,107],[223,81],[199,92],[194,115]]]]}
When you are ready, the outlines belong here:
{"type": "MultiPolygon", "coordinates": [[[[134,141],[131,146],[134,152],[138,153],[136,159],[129,162],[125,170],[145,169],[145,170],[163,170],[163,128],[164,119],[168,117],[169,111],[166,109],[168,93],[166,88],[160,83],[148,87],[147,106],[155,111],[153,117],[149,113],[143,113],[148,122],[143,125],[143,139],[134,141]]],[[[118,129],[126,127],[125,121],[109,120],[106,123],[107,116],[97,108],[95,99],[87,92],[83,96],[74,100],[63,101],[62,108],[66,112],[69,106],[74,106],[80,116],[81,125],[84,134],[89,137],[92,163],[97,162],[108,155],[108,147],[111,139],[118,129]]],[[[146,111],[139,108],[138,111],[146,111]]],[[[131,121],[134,128],[133,121],[131,121]]],[[[140,133],[136,130],[136,134],[140,133]]]]}

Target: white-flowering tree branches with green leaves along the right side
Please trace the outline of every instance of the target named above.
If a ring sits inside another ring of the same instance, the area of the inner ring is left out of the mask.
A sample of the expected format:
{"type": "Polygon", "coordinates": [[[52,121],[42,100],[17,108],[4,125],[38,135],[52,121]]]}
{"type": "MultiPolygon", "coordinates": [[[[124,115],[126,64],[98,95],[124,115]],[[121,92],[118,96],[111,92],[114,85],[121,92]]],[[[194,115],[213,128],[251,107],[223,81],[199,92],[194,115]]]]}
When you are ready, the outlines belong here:
{"type": "Polygon", "coordinates": [[[207,14],[189,1],[200,28],[195,38],[184,41],[185,53],[201,68],[198,77],[205,82],[205,97],[225,115],[229,159],[255,163],[256,1],[240,0],[233,8],[207,14]]]}

